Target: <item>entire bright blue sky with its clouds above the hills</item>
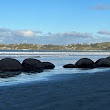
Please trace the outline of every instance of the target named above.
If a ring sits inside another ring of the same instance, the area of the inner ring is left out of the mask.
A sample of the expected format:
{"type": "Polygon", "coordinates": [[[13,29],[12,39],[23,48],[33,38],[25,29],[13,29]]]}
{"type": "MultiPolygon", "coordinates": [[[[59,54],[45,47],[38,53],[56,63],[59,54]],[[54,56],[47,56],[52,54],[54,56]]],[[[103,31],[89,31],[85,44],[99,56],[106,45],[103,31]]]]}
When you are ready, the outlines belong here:
{"type": "Polygon", "coordinates": [[[0,43],[110,41],[110,0],[0,0],[0,43]]]}

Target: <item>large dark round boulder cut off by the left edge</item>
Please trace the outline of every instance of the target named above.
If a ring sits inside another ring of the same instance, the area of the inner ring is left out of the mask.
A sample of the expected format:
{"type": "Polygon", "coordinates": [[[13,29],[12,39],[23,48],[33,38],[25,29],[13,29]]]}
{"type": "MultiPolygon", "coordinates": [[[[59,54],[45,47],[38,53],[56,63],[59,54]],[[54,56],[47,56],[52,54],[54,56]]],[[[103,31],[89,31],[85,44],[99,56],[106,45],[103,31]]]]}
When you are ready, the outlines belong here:
{"type": "Polygon", "coordinates": [[[21,63],[12,58],[3,58],[0,60],[0,77],[12,77],[21,74],[23,67],[21,63]]]}

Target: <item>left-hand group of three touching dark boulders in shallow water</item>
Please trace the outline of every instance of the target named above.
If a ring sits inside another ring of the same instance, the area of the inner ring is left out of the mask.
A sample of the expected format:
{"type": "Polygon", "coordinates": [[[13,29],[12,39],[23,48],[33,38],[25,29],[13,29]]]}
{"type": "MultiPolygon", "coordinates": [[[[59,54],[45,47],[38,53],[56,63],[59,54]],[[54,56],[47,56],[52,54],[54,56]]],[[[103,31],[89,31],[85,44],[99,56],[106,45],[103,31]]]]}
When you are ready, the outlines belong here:
{"type": "Polygon", "coordinates": [[[55,65],[51,62],[41,62],[37,59],[27,58],[22,63],[13,58],[3,58],[0,60],[0,77],[13,77],[22,72],[40,73],[45,69],[54,69],[55,65]]]}

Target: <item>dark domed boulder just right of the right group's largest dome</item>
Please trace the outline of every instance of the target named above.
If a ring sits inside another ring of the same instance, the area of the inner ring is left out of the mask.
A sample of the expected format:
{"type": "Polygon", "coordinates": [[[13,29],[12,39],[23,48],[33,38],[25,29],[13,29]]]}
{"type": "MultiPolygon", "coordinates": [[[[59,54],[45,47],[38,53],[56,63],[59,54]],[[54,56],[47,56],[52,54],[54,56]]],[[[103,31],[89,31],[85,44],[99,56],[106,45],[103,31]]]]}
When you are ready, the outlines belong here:
{"type": "Polygon", "coordinates": [[[100,58],[95,62],[96,67],[110,67],[110,60],[107,58],[100,58]]]}

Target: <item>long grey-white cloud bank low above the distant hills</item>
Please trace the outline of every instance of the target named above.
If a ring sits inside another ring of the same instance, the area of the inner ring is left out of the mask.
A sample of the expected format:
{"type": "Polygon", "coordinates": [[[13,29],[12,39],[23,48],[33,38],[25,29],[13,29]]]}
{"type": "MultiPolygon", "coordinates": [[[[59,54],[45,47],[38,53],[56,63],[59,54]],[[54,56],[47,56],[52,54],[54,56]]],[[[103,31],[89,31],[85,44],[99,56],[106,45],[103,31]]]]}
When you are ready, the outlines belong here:
{"type": "MultiPolygon", "coordinates": [[[[108,38],[105,38],[104,40],[108,41],[108,38]]],[[[32,31],[32,30],[12,30],[12,29],[0,28],[0,43],[10,43],[10,44],[33,43],[33,44],[68,45],[73,43],[94,43],[101,41],[103,41],[102,37],[95,37],[92,33],[87,33],[87,32],[73,31],[73,32],[64,32],[64,33],[51,33],[51,32],[43,33],[40,31],[32,31]]]]}

